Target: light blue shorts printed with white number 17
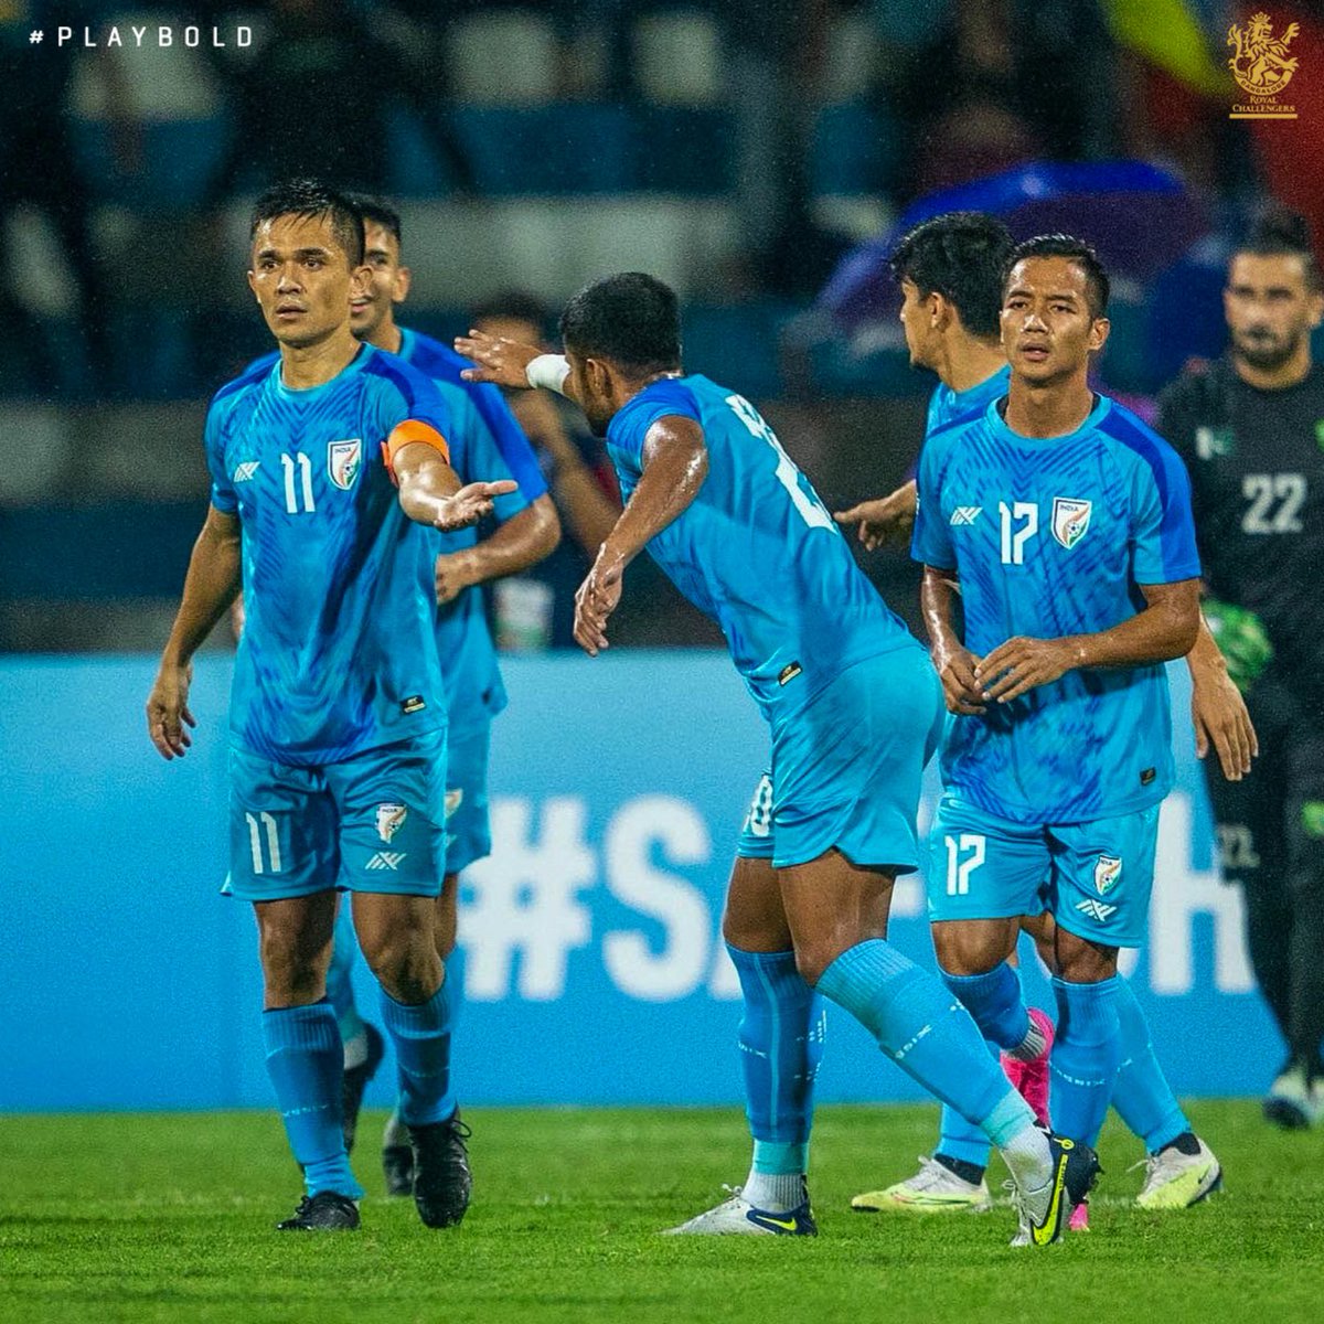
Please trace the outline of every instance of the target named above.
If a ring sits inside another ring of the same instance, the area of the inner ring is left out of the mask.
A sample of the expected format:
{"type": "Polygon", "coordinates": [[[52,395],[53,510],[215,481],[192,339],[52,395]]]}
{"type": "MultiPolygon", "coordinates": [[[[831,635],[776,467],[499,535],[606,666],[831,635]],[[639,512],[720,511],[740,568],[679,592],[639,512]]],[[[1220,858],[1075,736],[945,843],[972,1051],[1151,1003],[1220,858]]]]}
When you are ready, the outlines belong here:
{"type": "Polygon", "coordinates": [[[1158,805],[1086,824],[1018,824],[947,792],[929,833],[928,918],[1047,910],[1078,937],[1140,947],[1157,845],[1158,805]]]}

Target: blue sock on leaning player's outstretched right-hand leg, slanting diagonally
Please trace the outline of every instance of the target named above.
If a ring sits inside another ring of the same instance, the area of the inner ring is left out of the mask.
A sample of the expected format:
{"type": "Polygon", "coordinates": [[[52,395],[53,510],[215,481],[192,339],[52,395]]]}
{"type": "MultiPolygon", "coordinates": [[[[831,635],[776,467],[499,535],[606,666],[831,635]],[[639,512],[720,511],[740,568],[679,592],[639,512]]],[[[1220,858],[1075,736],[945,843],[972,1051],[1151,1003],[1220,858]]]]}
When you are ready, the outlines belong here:
{"type": "Polygon", "coordinates": [[[857,943],[822,973],[818,992],[843,1006],[907,1075],[977,1123],[993,1144],[1033,1125],[969,1013],[941,982],[883,939],[857,943]]]}

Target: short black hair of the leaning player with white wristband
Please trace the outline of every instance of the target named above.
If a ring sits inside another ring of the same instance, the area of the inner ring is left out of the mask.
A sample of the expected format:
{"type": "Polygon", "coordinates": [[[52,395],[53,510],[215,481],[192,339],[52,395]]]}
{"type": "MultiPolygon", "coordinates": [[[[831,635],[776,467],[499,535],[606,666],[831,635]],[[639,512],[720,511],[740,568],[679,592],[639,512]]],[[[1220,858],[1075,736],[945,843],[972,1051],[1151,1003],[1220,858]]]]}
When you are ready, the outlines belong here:
{"type": "Polygon", "coordinates": [[[681,367],[681,305],[655,275],[609,275],[565,305],[561,340],[575,354],[609,359],[626,372],[666,372],[681,367]]]}

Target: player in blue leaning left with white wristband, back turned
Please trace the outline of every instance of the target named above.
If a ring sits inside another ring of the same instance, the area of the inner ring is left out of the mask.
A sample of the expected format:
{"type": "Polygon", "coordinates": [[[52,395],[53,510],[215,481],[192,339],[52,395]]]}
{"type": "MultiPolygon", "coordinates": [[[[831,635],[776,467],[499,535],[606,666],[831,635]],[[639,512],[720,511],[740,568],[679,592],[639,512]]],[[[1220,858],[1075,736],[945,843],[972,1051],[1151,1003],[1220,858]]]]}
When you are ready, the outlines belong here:
{"type": "Polygon", "coordinates": [[[845,1006],[910,1075],[982,1127],[1017,1186],[1027,1239],[1055,1241],[1096,1161],[1035,1125],[936,978],[887,941],[892,882],[919,862],[920,776],[941,720],[936,679],[759,412],[681,367],[677,299],[610,277],[561,315],[565,357],[470,336],[475,377],[549,384],[605,434],[625,511],[576,597],[591,655],[626,565],[647,547],[718,621],[772,735],[772,858],[739,858],[723,932],[740,977],[749,1181],[674,1229],[816,1231],[806,1184],[817,998],[845,1006]]]}

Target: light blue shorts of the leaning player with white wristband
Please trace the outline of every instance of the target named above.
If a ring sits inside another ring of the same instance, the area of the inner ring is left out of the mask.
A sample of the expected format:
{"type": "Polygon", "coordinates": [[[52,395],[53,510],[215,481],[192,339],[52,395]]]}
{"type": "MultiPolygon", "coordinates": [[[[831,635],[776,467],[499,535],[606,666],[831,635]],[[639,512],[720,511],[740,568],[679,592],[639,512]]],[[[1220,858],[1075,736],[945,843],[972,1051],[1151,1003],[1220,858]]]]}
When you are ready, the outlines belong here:
{"type": "Polygon", "coordinates": [[[918,646],[847,667],[773,723],[736,854],[790,869],[835,847],[855,865],[918,869],[920,780],[941,730],[941,687],[918,646]]]}

